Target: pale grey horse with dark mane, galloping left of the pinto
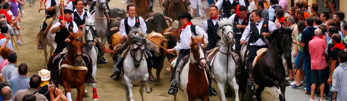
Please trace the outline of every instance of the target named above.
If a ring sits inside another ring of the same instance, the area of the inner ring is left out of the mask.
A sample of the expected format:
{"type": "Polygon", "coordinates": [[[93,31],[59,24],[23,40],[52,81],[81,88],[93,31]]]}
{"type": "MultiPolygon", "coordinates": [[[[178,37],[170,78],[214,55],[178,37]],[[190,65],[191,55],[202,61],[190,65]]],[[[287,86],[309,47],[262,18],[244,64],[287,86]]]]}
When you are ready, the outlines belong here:
{"type": "Polygon", "coordinates": [[[149,74],[144,49],[145,46],[153,50],[158,47],[149,41],[146,43],[145,38],[139,36],[138,34],[134,34],[136,31],[142,32],[141,30],[132,30],[128,34],[129,39],[125,44],[130,43],[128,48],[129,52],[126,54],[123,71],[121,72],[121,76],[124,80],[124,89],[126,91],[127,101],[134,101],[134,96],[132,93],[133,85],[140,85],[139,92],[141,94],[142,101],[144,101],[144,88],[146,93],[152,92],[152,89],[147,85],[149,74]]]}

